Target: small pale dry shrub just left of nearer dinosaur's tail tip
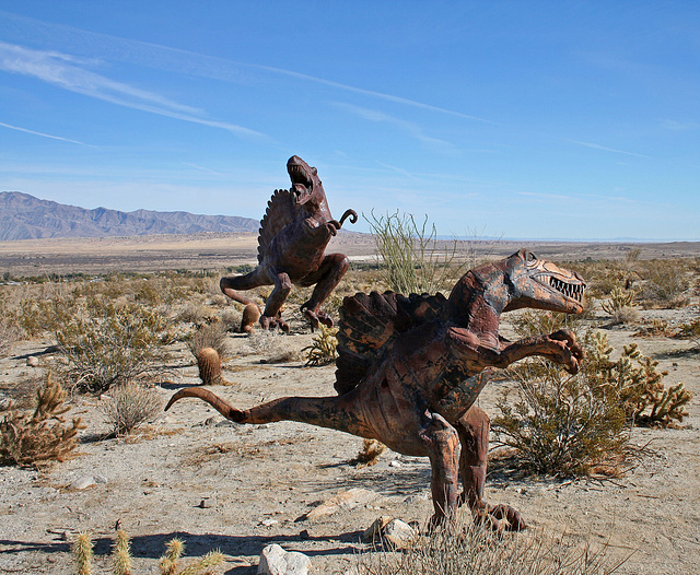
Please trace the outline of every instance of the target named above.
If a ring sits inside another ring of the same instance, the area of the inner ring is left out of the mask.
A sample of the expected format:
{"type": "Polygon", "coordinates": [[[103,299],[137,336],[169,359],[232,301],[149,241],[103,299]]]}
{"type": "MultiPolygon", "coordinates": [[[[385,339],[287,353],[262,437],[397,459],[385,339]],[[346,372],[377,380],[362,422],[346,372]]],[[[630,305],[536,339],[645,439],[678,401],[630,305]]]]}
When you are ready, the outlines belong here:
{"type": "Polygon", "coordinates": [[[110,396],[100,406],[100,411],[115,435],[128,435],[163,408],[158,391],[131,382],[115,386],[110,396]]]}

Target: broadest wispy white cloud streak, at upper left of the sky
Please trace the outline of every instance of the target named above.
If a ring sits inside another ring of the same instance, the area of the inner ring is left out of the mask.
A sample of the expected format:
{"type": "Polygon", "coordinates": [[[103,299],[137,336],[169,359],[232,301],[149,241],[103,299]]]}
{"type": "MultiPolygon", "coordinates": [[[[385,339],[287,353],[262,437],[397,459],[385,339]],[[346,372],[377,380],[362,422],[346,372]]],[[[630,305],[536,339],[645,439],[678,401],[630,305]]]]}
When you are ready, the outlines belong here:
{"type": "MultiPolygon", "coordinates": [[[[233,124],[207,119],[203,112],[160,94],[116,82],[75,64],[80,60],[56,51],[33,50],[0,42],[0,70],[36,78],[70,92],[126,106],[141,112],[175,118],[241,136],[262,137],[260,132],[233,124]]],[[[80,61],[82,63],[82,61],[80,61]]]]}

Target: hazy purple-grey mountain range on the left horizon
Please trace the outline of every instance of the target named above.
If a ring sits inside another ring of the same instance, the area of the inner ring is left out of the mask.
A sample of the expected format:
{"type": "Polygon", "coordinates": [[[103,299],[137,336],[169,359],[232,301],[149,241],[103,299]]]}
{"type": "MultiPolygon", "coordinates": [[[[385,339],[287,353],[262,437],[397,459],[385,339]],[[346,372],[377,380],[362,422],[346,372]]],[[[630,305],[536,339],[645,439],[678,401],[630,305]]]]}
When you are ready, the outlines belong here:
{"type": "Polygon", "coordinates": [[[20,191],[0,192],[0,240],[153,234],[257,232],[260,223],[235,215],[188,212],[86,210],[20,191]]]}

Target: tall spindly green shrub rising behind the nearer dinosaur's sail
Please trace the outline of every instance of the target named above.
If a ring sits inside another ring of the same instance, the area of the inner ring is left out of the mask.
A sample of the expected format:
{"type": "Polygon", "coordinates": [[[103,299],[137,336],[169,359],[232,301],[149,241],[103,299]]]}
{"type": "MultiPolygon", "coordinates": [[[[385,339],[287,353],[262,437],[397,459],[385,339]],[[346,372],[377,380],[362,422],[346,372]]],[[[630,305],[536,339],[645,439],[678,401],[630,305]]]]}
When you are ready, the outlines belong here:
{"type": "Polygon", "coordinates": [[[441,248],[435,225],[422,224],[412,214],[399,212],[365,216],[377,249],[380,273],[386,286],[397,293],[434,293],[452,288],[450,266],[457,243],[441,248]]]}

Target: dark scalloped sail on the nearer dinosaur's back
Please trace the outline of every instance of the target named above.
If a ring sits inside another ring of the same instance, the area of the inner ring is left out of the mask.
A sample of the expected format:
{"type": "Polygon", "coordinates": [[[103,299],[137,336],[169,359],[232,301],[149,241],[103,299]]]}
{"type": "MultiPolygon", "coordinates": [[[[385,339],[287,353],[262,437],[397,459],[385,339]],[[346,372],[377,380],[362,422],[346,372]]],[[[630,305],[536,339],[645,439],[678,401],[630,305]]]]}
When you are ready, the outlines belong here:
{"type": "Polygon", "coordinates": [[[442,294],[407,297],[395,292],[346,297],[339,310],[336,390],[342,395],[355,387],[398,333],[438,317],[445,302],[442,294]]]}

